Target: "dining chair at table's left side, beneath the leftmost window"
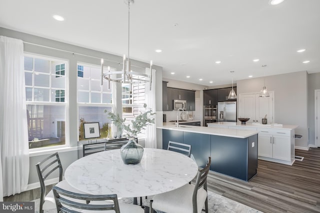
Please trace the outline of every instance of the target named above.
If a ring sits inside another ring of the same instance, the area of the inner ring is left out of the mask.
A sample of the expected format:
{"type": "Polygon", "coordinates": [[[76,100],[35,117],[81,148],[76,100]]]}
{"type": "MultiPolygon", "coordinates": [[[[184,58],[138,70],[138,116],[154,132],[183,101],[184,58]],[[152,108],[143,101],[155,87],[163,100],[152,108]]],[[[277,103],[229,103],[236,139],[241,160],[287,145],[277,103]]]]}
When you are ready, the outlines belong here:
{"type": "MultiPolygon", "coordinates": [[[[56,186],[71,191],[75,193],[81,193],[80,191],[74,189],[71,187],[65,180],[62,180],[62,165],[60,162],[60,158],[58,153],[54,153],[50,155],[49,157],[43,159],[39,163],[35,165],[36,172],[39,177],[40,182],[40,207],[39,207],[39,213],[43,213],[43,210],[48,209],[54,209],[55,208],[55,202],[53,197],[53,192],[50,190],[46,194],[45,179],[54,171],[59,171],[59,182],[56,184],[56,186]]],[[[88,202],[87,202],[88,203],[88,202]]]]}

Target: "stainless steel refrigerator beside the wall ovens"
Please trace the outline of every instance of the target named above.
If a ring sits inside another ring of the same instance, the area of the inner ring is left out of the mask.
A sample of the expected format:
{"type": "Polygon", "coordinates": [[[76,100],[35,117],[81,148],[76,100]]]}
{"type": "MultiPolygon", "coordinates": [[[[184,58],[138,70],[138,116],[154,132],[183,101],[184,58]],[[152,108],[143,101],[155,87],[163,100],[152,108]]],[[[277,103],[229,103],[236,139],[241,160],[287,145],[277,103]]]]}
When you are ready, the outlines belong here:
{"type": "Polygon", "coordinates": [[[218,102],[218,122],[236,122],[236,101],[218,102]]]}

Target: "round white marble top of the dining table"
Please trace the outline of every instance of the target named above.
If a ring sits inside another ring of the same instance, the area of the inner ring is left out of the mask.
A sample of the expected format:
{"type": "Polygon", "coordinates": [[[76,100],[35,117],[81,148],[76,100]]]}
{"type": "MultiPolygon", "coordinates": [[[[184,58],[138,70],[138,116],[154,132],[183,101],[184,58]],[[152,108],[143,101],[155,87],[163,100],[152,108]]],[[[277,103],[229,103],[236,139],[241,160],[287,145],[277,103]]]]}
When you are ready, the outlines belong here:
{"type": "Polygon", "coordinates": [[[73,162],[65,180],[87,194],[117,194],[119,198],[151,196],[190,182],[197,174],[194,161],[180,153],[144,148],[137,165],[123,164],[118,149],[94,153],[73,162]]]}

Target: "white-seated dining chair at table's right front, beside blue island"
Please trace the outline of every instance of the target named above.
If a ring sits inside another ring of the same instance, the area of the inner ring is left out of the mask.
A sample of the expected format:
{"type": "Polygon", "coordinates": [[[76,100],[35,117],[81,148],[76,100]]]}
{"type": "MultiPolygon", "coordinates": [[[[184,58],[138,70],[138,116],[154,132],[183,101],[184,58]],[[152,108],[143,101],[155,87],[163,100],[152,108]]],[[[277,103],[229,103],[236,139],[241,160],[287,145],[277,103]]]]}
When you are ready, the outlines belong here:
{"type": "Polygon", "coordinates": [[[149,213],[153,209],[165,213],[200,213],[204,205],[208,213],[206,178],[210,169],[211,158],[205,168],[198,171],[195,185],[186,184],[178,189],[155,195],[150,200],[149,213]]]}

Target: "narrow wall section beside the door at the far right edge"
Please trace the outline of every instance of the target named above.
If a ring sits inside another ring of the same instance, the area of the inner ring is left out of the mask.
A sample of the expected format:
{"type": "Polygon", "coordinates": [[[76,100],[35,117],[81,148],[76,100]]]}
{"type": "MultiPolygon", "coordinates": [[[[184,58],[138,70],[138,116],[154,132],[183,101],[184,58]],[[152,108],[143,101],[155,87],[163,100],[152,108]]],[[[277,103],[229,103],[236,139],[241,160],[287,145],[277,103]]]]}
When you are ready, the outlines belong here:
{"type": "Polygon", "coordinates": [[[314,146],[314,90],[320,89],[320,73],[308,74],[308,126],[309,145],[314,146]]]}

